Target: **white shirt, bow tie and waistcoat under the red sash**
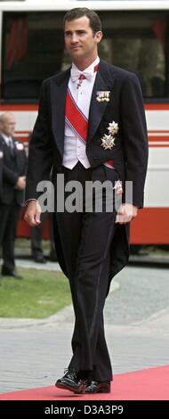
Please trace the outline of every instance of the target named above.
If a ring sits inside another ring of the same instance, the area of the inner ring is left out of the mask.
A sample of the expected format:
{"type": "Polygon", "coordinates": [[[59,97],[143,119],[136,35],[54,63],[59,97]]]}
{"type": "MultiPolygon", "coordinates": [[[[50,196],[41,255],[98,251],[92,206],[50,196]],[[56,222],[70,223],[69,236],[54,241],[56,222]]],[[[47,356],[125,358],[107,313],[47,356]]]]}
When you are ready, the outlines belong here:
{"type": "MultiPolygon", "coordinates": [[[[94,67],[99,64],[99,57],[87,68],[84,70],[84,73],[90,73],[92,76],[90,78],[84,78],[82,80],[81,86],[78,86],[78,79],[76,80],[70,76],[68,81],[68,88],[72,94],[74,101],[76,102],[77,107],[84,113],[86,119],[89,119],[89,109],[91,103],[91,97],[93,93],[93,85],[96,78],[96,71],[94,67]],[[74,80],[74,81],[73,81],[74,80]]],[[[76,65],[72,64],[72,71],[80,71],[76,68],[76,65]]],[[[83,71],[80,71],[80,74],[83,74],[83,71]]],[[[68,123],[65,121],[65,137],[64,137],[64,152],[63,152],[63,161],[62,165],[66,168],[74,168],[77,161],[80,161],[84,168],[90,168],[89,160],[85,152],[86,144],[81,141],[73,130],[68,127],[68,123]]]]}

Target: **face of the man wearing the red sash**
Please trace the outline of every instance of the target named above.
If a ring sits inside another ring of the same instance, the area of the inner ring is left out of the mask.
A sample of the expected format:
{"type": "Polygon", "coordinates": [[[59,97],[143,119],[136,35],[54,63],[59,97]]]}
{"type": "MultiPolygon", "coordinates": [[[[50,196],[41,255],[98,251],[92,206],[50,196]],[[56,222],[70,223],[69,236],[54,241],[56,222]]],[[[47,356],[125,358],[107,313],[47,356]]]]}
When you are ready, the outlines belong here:
{"type": "Polygon", "coordinates": [[[73,61],[93,59],[97,55],[97,44],[101,41],[101,31],[93,34],[90,21],[83,16],[74,21],[65,22],[65,45],[73,61]]]}

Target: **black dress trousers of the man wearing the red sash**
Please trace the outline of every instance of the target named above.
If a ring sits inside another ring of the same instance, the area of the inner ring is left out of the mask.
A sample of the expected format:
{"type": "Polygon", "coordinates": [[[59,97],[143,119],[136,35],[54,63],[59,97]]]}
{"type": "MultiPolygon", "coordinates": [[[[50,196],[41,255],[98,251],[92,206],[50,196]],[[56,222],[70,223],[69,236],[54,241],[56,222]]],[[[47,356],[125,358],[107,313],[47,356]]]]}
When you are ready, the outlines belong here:
{"type": "MultiPolygon", "coordinates": [[[[77,163],[63,168],[65,183],[78,180],[118,178],[117,171],[104,166],[85,169],[77,163]],[[109,174],[109,176],[108,176],[109,174]]],[[[67,197],[66,195],[65,197],[67,197]]],[[[104,198],[103,198],[104,200],[104,198]]],[[[112,380],[112,368],[105,340],[103,308],[109,289],[110,245],[115,232],[116,212],[56,212],[60,242],[75,311],[72,338],[73,357],[69,367],[88,371],[97,381],[112,380]]]]}

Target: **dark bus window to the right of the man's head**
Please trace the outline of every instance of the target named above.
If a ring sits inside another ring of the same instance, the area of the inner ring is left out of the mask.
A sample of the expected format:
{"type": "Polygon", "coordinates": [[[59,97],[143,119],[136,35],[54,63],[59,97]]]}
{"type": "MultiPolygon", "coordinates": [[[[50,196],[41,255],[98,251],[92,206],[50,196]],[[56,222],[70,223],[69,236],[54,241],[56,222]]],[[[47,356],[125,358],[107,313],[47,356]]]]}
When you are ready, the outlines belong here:
{"type": "Polygon", "coordinates": [[[134,71],[145,98],[167,96],[166,12],[104,12],[102,21],[101,55],[134,71]]]}

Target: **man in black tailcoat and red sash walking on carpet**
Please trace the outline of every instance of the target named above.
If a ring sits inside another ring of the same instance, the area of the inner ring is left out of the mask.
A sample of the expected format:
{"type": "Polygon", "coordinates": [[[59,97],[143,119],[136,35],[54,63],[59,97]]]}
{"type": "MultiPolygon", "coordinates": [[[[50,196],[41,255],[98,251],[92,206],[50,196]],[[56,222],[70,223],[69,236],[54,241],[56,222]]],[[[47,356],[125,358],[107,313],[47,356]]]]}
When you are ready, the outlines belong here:
{"type": "MultiPolygon", "coordinates": [[[[55,187],[58,173],[64,174],[66,185],[71,180],[83,186],[95,180],[109,180],[113,186],[119,178],[123,185],[133,182],[133,201],[125,201],[123,187],[117,213],[84,208],[59,212],[56,202],[54,215],[57,255],[76,316],[73,357],[56,386],[76,393],[109,392],[112,369],[103,307],[111,278],[128,259],[129,222],[143,205],[147,129],[137,77],[98,57],[98,15],[87,8],[67,12],[64,35],[73,63],[42,86],[29,147],[25,220],[30,226],[40,222],[36,185],[49,178],[52,166],[55,187]]],[[[103,194],[103,206],[104,200],[103,194]]]]}

